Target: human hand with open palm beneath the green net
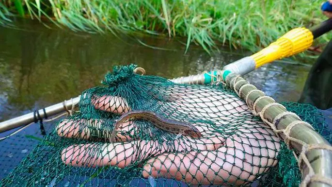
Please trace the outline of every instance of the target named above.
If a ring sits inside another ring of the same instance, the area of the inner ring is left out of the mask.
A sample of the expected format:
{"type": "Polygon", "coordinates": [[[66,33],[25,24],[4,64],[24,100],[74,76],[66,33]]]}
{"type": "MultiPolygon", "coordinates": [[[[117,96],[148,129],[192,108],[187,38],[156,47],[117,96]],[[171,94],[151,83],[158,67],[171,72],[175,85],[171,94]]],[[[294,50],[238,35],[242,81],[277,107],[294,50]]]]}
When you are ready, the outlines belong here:
{"type": "MultiPolygon", "coordinates": [[[[59,136],[95,140],[97,135],[102,141],[63,149],[63,162],[119,168],[141,163],[144,178],[172,178],[193,185],[241,185],[276,165],[279,138],[236,96],[210,87],[181,85],[165,93],[171,99],[150,109],[176,120],[192,119],[187,122],[202,137],[177,137],[146,121],[131,120],[116,129],[118,142],[111,143],[112,127],[105,126],[109,119],[65,119],[57,127],[59,136]]],[[[132,110],[126,98],[116,96],[94,96],[91,102],[95,109],[117,115],[132,110]]]]}

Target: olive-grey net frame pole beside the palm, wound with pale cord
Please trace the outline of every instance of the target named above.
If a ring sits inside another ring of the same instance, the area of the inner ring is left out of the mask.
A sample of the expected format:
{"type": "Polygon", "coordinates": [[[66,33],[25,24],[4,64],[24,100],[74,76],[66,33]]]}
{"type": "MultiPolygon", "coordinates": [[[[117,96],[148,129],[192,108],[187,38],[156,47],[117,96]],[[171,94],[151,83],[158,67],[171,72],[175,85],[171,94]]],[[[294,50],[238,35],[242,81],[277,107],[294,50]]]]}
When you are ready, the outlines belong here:
{"type": "MultiPolygon", "coordinates": [[[[264,109],[264,115],[261,114],[261,117],[266,119],[269,123],[272,123],[278,115],[287,112],[285,107],[283,107],[282,105],[271,104],[276,102],[273,99],[266,97],[266,95],[262,91],[257,91],[258,89],[254,85],[250,85],[248,81],[244,80],[242,77],[239,77],[237,74],[229,73],[227,71],[221,71],[219,74],[219,79],[222,82],[226,83],[227,86],[234,89],[240,98],[246,100],[248,107],[252,109],[254,113],[257,112],[259,114],[263,112],[262,110],[264,109]],[[270,106],[267,107],[268,105],[270,106]]],[[[280,118],[280,120],[277,120],[277,122],[275,123],[276,131],[279,131],[279,136],[286,141],[290,149],[295,149],[298,153],[301,153],[303,149],[303,143],[306,145],[325,145],[327,147],[331,146],[324,137],[316,133],[316,131],[310,128],[304,121],[299,122],[297,125],[290,128],[290,131],[287,135],[287,132],[285,132],[287,126],[294,123],[294,121],[299,120],[300,119],[297,118],[295,115],[285,115],[284,117],[280,118]],[[290,138],[292,140],[287,141],[287,139],[290,138]]],[[[272,129],[273,128],[274,127],[272,127],[272,129]]],[[[315,175],[323,176],[330,180],[332,179],[331,150],[329,151],[323,148],[312,149],[308,151],[305,155],[308,158],[315,175]]],[[[304,162],[302,162],[300,168],[302,171],[302,179],[304,179],[307,177],[307,175],[310,174],[310,168],[304,162]]],[[[310,187],[331,187],[331,185],[332,184],[329,185],[322,182],[309,183],[310,187]]]]}

